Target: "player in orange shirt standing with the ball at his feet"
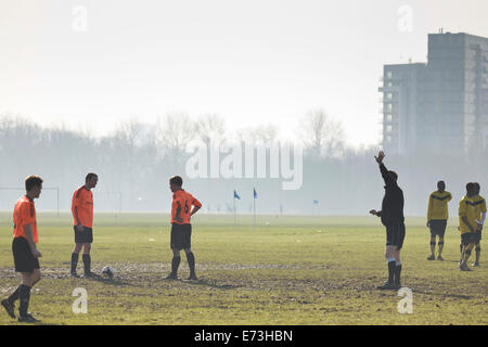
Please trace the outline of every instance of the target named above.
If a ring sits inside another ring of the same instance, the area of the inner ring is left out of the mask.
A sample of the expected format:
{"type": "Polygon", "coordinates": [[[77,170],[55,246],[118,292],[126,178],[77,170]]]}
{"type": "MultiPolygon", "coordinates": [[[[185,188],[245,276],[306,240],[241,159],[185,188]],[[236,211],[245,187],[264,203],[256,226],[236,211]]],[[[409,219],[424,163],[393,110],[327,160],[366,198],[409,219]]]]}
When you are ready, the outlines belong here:
{"type": "Polygon", "coordinates": [[[85,277],[92,277],[91,272],[91,244],[93,243],[93,193],[99,177],[90,172],[85,178],[85,184],[78,188],[73,194],[72,214],[73,229],[75,231],[75,249],[72,253],[72,277],[78,277],[76,267],[81,248],[84,249],[82,260],[85,277]]]}

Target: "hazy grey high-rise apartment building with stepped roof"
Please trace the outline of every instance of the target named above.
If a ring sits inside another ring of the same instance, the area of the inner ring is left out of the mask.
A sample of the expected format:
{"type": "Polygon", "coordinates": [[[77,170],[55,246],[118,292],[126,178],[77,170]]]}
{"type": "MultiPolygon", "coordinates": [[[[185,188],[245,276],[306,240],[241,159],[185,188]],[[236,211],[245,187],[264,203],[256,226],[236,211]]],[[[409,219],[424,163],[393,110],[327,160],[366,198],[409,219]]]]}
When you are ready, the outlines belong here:
{"type": "Polygon", "coordinates": [[[488,146],[488,38],[428,35],[428,62],[385,65],[383,147],[462,155],[488,146]]]}

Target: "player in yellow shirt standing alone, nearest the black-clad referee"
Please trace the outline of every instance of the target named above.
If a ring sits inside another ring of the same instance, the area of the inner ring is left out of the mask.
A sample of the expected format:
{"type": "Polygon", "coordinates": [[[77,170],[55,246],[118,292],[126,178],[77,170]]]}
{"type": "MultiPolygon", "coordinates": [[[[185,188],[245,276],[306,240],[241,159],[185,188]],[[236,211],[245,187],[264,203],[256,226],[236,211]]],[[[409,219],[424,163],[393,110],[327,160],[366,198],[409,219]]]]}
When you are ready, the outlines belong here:
{"type": "Polygon", "coordinates": [[[446,191],[444,181],[437,182],[437,191],[428,197],[427,227],[431,229],[431,255],[427,260],[436,259],[436,236],[439,237],[437,260],[442,259],[444,235],[449,218],[448,203],[452,200],[451,193],[446,191]]]}

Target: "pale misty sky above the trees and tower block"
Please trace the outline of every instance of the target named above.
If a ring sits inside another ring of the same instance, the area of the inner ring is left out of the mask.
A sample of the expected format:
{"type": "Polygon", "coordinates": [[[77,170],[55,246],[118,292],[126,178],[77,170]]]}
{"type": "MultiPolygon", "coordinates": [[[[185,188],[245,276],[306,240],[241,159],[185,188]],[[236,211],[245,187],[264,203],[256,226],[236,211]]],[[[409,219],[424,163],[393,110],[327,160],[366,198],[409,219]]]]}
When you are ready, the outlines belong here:
{"type": "Polygon", "coordinates": [[[97,134],[215,113],[290,137],[323,108],[349,143],[374,144],[383,64],[426,62],[440,27],[488,36],[487,13],[486,0],[0,0],[0,113],[97,134]]]}

